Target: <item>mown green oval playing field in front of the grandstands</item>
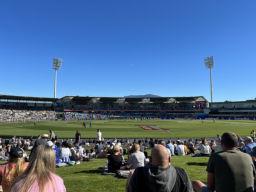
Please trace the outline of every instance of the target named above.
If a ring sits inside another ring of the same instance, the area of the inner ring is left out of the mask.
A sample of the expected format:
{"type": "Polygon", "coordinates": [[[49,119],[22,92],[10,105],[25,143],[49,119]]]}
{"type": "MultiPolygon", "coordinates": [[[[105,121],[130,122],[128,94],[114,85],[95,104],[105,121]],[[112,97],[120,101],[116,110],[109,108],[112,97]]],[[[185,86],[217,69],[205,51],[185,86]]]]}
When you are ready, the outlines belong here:
{"type": "Polygon", "coordinates": [[[213,124],[212,120],[204,120],[206,124],[202,124],[201,120],[157,120],[157,121],[123,121],[123,120],[93,120],[92,128],[89,128],[90,121],[86,121],[86,129],[83,128],[83,121],[40,121],[34,126],[34,123],[26,122],[18,124],[5,123],[0,124],[0,137],[12,138],[13,135],[21,136],[24,139],[33,135],[36,139],[37,135],[49,134],[52,129],[55,135],[60,139],[75,138],[76,130],[80,130],[81,138],[88,139],[97,137],[97,129],[102,132],[102,138],[211,138],[216,134],[222,134],[226,131],[235,132],[241,137],[250,135],[252,129],[256,128],[256,121],[248,120],[216,120],[213,124]],[[104,123],[106,122],[106,123],[104,123]],[[167,133],[163,131],[144,131],[136,124],[151,124],[163,127],[169,130],[167,133]]]}

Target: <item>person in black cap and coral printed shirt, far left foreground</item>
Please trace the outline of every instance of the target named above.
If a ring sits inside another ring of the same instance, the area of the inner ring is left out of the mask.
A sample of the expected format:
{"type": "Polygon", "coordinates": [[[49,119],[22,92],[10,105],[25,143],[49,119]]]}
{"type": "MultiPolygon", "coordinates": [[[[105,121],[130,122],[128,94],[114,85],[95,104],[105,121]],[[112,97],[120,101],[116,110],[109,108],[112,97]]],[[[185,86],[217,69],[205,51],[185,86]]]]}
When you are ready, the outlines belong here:
{"type": "Polygon", "coordinates": [[[9,152],[9,161],[0,167],[0,184],[2,183],[3,191],[8,191],[13,180],[18,177],[28,163],[25,163],[23,151],[21,148],[12,148],[9,152]]]}

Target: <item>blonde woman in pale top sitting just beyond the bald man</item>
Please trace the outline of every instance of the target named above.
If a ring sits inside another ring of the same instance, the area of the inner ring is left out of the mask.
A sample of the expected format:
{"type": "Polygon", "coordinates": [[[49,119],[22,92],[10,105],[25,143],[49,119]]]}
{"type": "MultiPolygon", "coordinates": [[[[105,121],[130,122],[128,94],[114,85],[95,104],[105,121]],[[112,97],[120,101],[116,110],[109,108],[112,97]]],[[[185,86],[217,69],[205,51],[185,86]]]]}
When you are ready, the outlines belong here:
{"type": "Polygon", "coordinates": [[[140,146],[138,143],[134,143],[130,150],[130,158],[127,161],[128,165],[132,165],[131,169],[137,167],[143,167],[146,165],[146,159],[144,153],[140,152],[140,146]]]}

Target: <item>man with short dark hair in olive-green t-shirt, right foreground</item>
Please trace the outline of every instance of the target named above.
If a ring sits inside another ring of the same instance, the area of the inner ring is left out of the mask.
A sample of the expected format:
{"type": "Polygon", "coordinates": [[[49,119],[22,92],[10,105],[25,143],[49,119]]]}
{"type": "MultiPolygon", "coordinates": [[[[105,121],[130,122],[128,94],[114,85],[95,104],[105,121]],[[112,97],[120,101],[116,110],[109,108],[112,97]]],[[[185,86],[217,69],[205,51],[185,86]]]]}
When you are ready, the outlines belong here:
{"type": "Polygon", "coordinates": [[[199,180],[193,180],[194,191],[253,191],[253,178],[256,178],[256,171],[252,158],[236,150],[237,141],[236,134],[233,132],[222,134],[223,151],[212,153],[207,164],[207,186],[199,180]]]}

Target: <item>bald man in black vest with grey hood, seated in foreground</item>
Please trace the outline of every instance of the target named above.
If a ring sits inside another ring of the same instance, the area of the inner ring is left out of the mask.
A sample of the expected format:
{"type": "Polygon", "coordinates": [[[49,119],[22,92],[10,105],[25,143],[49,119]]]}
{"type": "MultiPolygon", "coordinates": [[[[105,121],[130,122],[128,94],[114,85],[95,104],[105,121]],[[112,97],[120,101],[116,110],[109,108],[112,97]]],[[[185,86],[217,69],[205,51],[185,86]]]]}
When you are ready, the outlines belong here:
{"type": "Polygon", "coordinates": [[[126,192],[136,191],[188,191],[193,192],[187,172],[168,165],[171,162],[168,150],[163,145],[156,145],[150,156],[152,164],[138,167],[131,171],[126,183],[126,192]]]}

